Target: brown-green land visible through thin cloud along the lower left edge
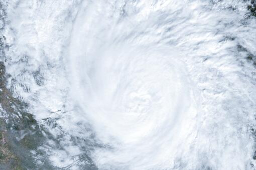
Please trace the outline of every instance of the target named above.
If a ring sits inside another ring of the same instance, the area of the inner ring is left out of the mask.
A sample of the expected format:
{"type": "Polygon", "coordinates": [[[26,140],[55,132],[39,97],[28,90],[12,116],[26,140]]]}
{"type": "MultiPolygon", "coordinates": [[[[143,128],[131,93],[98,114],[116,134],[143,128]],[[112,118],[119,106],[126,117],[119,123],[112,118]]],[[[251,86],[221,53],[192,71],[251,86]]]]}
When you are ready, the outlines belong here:
{"type": "Polygon", "coordinates": [[[13,96],[6,88],[5,65],[0,62],[0,169],[34,169],[31,150],[44,142],[44,136],[33,114],[26,111],[27,104],[13,96]]]}

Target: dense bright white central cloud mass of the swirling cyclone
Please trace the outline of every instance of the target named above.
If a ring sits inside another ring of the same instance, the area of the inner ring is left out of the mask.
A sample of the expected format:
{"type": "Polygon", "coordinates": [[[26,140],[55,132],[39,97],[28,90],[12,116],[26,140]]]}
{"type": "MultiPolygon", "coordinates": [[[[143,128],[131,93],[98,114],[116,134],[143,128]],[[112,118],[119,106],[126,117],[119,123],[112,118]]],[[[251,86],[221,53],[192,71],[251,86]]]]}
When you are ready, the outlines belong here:
{"type": "Polygon", "coordinates": [[[105,169],[170,167],[200,121],[181,53],[118,37],[122,23],[97,32],[85,15],[75,23],[69,56],[81,116],[110,147],[96,149],[95,161],[105,169]]]}

